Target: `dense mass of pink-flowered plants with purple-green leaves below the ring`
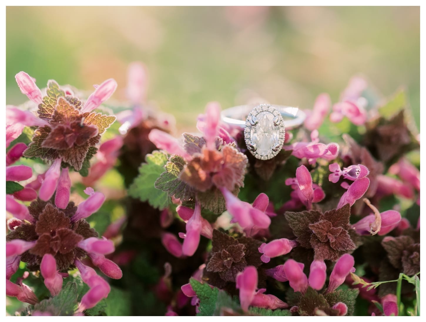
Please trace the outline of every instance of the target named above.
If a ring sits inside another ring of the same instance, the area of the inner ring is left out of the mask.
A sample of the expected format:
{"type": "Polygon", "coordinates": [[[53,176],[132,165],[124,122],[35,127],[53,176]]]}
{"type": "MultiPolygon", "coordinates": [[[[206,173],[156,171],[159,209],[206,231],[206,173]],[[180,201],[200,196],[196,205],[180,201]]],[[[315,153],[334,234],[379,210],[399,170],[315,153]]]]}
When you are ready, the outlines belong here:
{"type": "Polygon", "coordinates": [[[420,142],[403,92],[383,103],[354,77],[258,160],[219,103],[176,138],[140,63],[122,105],[106,105],[112,79],[89,96],[16,80],[30,102],[6,108],[6,295],[26,303],[12,313],[420,315],[420,142]],[[108,193],[110,174],[127,193],[108,193]]]}

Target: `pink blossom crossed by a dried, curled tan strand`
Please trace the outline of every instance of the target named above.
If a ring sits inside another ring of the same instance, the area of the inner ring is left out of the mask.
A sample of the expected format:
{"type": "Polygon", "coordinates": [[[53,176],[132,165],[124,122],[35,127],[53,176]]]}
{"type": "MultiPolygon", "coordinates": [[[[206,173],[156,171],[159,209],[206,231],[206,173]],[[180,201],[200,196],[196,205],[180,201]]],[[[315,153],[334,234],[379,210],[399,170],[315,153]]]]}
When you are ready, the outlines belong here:
{"type": "MultiPolygon", "coordinates": [[[[383,211],[380,213],[380,217],[382,218],[382,223],[380,226],[380,231],[377,233],[379,236],[386,235],[389,233],[389,231],[397,228],[401,221],[401,214],[395,210],[383,211]]],[[[374,214],[370,214],[352,225],[352,228],[354,228],[355,231],[357,231],[357,233],[360,235],[369,235],[373,229],[372,226],[374,221],[374,214]]]]}

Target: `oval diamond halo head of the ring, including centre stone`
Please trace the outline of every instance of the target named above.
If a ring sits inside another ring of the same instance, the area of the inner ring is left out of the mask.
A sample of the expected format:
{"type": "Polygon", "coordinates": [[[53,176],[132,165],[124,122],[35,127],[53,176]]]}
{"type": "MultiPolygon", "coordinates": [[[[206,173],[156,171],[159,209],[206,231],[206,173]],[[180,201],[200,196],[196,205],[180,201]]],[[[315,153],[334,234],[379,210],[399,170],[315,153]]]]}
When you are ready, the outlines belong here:
{"type": "Polygon", "coordinates": [[[285,128],[281,113],[269,104],[261,104],[248,114],[244,140],[248,150],[260,160],[275,157],[284,144],[285,128]]]}

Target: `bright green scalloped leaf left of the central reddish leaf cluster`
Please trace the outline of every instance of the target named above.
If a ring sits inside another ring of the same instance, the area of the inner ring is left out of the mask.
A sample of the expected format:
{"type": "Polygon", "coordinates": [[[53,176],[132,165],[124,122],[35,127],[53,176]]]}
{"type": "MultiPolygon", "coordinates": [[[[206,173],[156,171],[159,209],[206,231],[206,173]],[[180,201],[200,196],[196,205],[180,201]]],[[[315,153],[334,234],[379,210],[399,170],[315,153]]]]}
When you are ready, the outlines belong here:
{"type": "Polygon", "coordinates": [[[145,161],[147,163],[141,165],[139,176],[129,187],[129,195],[141,201],[148,201],[154,208],[164,209],[170,204],[170,197],[167,192],[155,188],[155,181],[164,171],[167,154],[163,151],[154,151],[147,154],[145,161]]]}

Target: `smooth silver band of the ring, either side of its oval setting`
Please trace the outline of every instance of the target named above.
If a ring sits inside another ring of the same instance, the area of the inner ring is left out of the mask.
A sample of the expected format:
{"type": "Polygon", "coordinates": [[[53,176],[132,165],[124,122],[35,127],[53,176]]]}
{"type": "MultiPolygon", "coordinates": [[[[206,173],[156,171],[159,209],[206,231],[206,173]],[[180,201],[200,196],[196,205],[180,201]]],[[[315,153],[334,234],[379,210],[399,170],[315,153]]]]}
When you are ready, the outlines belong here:
{"type": "MultiPolygon", "coordinates": [[[[276,108],[282,115],[290,119],[284,119],[285,128],[291,130],[302,125],[305,121],[306,114],[304,111],[297,107],[291,107],[286,105],[273,105],[268,104],[276,108]]],[[[221,112],[222,121],[229,124],[245,128],[246,117],[256,105],[239,105],[231,108],[227,108],[221,112]]]]}

